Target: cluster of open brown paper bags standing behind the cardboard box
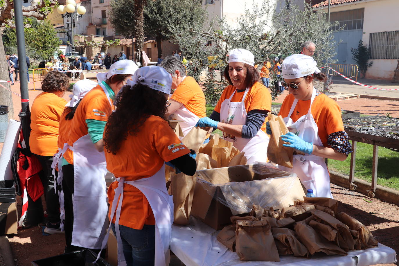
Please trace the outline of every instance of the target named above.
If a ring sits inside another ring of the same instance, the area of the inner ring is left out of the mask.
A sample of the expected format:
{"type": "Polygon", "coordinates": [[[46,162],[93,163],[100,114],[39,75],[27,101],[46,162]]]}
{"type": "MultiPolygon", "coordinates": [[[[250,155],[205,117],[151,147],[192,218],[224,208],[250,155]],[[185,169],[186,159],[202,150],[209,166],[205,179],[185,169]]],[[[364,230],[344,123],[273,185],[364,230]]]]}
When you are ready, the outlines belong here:
{"type": "Polygon", "coordinates": [[[245,153],[233,146],[233,142],[223,140],[215,134],[207,144],[199,148],[197,170],[239,166],[247,163],[245,153]]]}

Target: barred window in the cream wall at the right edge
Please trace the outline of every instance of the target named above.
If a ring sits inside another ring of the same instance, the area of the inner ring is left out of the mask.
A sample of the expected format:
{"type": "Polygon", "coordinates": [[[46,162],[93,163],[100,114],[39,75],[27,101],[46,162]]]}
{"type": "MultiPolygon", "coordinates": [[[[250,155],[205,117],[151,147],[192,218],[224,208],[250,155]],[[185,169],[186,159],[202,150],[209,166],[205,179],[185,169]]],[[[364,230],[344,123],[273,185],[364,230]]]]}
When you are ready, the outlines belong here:
{"type": "Polygon", "coordinates": [[[399,59],[399,30],[370,33],[370,59],[399,59]]]}

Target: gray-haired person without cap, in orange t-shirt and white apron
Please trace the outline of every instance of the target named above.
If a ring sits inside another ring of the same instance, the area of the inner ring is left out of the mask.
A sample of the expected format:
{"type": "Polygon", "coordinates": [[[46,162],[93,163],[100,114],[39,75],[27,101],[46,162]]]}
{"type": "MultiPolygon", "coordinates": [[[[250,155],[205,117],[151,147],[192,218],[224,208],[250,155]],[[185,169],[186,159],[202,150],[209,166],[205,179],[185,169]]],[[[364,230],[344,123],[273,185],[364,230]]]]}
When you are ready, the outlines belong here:
{"type": "Polygon", "coordinates": [[[160,66],[172,76],[172,89],[175,90],[170,97],[166,117],[182,120],[179,124],[186,136],[198,119],[206,116],[205,95],[193,77],[186,77],[186,70],[177,57],[166,57],[160,66]]]}

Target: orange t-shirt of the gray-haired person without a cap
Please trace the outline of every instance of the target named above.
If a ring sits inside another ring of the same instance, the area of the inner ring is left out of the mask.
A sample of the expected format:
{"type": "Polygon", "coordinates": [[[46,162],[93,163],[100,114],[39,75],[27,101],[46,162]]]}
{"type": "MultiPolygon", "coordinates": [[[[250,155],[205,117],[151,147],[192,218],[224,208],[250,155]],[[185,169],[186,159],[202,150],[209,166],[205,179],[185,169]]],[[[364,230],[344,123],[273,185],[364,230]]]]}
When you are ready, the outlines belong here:
{"type": "Polygon", "coordinates": [[[193,77],[185,77],[170,97],[199,118],[206,116],[205,95],[193,77]]]}

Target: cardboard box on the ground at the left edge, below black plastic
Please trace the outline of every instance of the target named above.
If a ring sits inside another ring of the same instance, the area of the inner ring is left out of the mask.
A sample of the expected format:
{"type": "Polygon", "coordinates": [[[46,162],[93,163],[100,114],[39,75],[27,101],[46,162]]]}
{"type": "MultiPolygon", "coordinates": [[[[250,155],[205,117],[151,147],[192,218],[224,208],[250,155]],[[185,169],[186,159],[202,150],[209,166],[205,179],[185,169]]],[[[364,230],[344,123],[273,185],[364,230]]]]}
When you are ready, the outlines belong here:
{"type": "Polygon", "coordinates": [[[0,235],[18,233],[17,203],[0,203],[0,235]]]}

